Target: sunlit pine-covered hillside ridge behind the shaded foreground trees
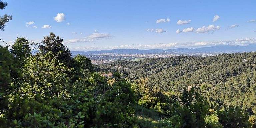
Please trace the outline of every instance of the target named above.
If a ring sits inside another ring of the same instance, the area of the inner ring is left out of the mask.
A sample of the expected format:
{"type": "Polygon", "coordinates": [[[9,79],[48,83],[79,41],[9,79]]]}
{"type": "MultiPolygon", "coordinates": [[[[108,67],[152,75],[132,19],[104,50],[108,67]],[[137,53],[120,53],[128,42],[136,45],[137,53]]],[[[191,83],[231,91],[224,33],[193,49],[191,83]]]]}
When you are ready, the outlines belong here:
{"type": "Polygon", "coordinates": [[[97,71],[121,72],[138,83],[148,78],[151,86],[179,92],[194,86],[214,105],[239,105],[256,114],[256,52],[209,57],[177,56],[141,61],[115,61],[96,66],[97,71]]]}

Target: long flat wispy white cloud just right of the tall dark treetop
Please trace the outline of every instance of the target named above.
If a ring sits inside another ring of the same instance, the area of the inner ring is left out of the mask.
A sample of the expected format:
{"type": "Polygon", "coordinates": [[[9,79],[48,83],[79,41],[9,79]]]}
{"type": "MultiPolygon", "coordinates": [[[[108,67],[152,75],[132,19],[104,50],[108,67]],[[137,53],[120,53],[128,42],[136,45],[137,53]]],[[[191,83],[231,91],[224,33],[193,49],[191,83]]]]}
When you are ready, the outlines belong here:
{"type": "Polygon", "coordinates": [[[95,33],[92,33],[89,36],[81,37],[81,38],[77,38],[77,39],[66,40],[66,41],[64,41],[64,43],[71,44],[71,43],[76,43],[76,42],[92,42],[92,41],[96,41],[96,40],[100,40],[100,39],[110,38],[112,36],[113,35],[111,35],[109,33],[100,33],[98,31],[96,31],[95,33]]]}

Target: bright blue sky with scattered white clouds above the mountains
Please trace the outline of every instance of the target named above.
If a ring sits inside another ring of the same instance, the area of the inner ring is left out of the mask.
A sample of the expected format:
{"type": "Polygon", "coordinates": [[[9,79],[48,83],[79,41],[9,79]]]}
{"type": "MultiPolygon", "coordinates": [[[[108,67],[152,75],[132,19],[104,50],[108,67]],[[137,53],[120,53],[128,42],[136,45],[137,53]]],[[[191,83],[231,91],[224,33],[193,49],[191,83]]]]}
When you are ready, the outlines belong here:
{"type": "Polygon", "coordinates": [[[0,31],[8,43],[19,36],[40,42],[50,32],[71,51],[256,43],[255,0],[3,1],[0,16],[13,16],[0,31]]]}

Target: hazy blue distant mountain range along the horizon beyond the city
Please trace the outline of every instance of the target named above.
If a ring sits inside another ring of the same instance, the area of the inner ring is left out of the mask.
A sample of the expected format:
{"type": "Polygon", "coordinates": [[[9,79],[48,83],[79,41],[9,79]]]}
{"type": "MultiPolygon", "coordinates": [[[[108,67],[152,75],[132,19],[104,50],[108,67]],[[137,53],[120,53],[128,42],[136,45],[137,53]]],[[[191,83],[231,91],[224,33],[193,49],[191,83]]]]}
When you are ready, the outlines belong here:
{"type": "Polygon", "coordinates": [[[80,52],[72,51],[73,55],[97,55],[104,53],[111,54],[171,54],[171,53],[237,53],[237,52],[254,52],[256,51],[256,44],[249,44],[247,46],[240,45],[218,45],[211,47],[202,48],[176,48],[176,49],[150,49],[150,50],[139,50],[139,49],[112,49],[112,50],[101,50],[101,51],[89,51],[80,52]]]}

